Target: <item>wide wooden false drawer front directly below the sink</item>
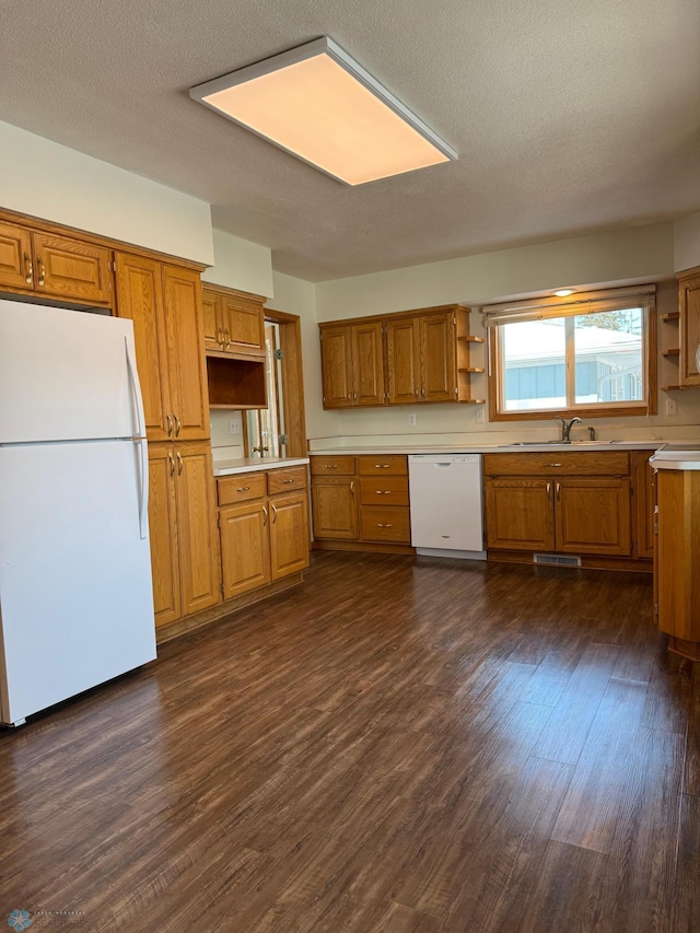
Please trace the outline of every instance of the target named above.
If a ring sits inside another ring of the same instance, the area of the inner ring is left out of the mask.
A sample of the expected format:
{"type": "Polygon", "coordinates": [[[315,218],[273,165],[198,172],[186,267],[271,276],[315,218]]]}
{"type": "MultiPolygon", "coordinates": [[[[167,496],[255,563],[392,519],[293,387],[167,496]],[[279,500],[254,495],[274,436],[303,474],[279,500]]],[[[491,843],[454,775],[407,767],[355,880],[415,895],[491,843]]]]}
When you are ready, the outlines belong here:
{"type": "Polygon", "coordinates": [[[552,451],[551,453],[485,454],[486,476],[627,476],[627,451],[552,451]]]}

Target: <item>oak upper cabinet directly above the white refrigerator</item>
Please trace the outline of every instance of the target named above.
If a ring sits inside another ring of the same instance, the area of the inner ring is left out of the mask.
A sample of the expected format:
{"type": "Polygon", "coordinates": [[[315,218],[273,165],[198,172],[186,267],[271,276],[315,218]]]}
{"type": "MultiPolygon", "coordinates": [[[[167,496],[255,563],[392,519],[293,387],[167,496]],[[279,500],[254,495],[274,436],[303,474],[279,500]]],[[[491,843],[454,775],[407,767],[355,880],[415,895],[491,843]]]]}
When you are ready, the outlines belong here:
{"type": "Polygon", "coordinates": [[[110,306],[109,249],[0,223],[0,289],[110,306]]]}

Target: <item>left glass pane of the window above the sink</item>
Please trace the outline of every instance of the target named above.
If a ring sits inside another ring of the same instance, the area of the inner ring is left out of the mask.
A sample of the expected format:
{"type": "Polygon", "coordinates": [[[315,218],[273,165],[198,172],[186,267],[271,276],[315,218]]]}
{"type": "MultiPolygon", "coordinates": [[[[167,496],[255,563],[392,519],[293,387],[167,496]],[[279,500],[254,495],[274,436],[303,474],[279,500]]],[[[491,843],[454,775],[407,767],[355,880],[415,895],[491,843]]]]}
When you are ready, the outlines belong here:
{"type": "Polygon", "coordinates": [[[562,317],[500,328],[505,411],[567,407],[567,334],[562,317]]]}

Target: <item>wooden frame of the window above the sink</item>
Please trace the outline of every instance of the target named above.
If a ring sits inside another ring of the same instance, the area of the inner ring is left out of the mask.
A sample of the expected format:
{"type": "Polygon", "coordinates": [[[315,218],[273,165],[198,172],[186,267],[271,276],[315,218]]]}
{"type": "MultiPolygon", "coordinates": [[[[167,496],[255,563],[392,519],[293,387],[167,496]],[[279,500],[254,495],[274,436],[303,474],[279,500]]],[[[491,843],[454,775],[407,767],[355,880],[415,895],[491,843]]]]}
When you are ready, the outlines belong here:
{"type": "MultiPolygon", "coordinates": [[[[584,299],[583,296],[575,302],[575,304],[583,304],[584,301],[591,301],[592,303],[595,300],[600,300],[605,295],[605,292],[596,293],[595,296],[591,296],[591,299],[584,299]]],[[[637,295],[639,298],[639,295],[637,295]]],[[[640,303],[635,302],[632,296],[630,296],[630,301],[627,303],[627,307],[640,307],[640,303]]],[[[547,301],[545,307],[547,308],[548,317],[571,317],[574,318],[576,316],[575,311],[571,311],[572,302],[561,303],[561,305],[557,305],[553,302],[547,301]],[[558,307],[561,308],[561,314],[557,314],[558,307]],[[565,308],[565,312],[564,312],[565,308]]],[[[482,308],[485,312],[488,312],[488,308],[482,308]]],[[[501,352],[501,327],[509,323],[508,318],[504,317],[499,324],[492,324],[487,326],[487,340],[488,340],[488,357],[489,357],[489,419],[491,421],[542,421],[549,418],[573,418],[575,416],[583,418],[619,418],[619,417],[635,417],[635,416],[648,416],[655,415],[657,410],[657,397],[658,397],[658,374],[657,374],[657,364],[656,364],[656,355],[657,355],[657,328],[658,322],[656,316],[656,305],[653,300],[648,307],[642,307],[643,314],[643,328],[642,328],[642,355],[643,355],[643,372],[645,376],[645,389],[646,389],[646,398],[640,401],[628,401],[628,403],[616,403],[616,401],[599,401],[599,403],[586,403],[576,405],[575,401],[573,405],[568,404],[561,408],[530,408],[527,410],[518,410],[518,411],[506,411],[504,410],[504,389],[505,389],[505,381],[503,378],[502,372],[502,360],[503,354],[501,352]]],[[[526,318],[518,317],[515,319],[524,320],[526,318]]],[[[537,315],[533,315],[532,319],[537,319],[537,315]]],[[[567,393],[567,401],[570,403],[571,398],[575,398],[574,388],[573,388],[573,369],[575,365],[575,349],[574,349],[574,340],[573,340],[573,330],[574,327],[570,328],[571,333],[568,334],[564,349],[564,364],[567,368],[565,375],[565,393],[567,393]],[[574,365],[572,365],[572,363],[574,365]]]]}

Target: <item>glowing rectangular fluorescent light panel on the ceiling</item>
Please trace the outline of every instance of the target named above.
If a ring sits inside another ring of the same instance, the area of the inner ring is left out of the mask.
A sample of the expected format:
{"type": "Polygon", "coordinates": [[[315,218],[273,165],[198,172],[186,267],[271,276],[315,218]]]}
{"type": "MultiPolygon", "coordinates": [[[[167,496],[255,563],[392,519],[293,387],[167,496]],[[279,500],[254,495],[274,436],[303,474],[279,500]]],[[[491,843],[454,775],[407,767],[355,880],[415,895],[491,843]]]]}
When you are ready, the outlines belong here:
{"type": "Polygon", "coordinates": [[[457,159],[327,37],[207,81],[189,95],[348,185],[457,159]]]}

